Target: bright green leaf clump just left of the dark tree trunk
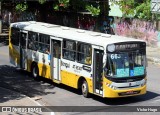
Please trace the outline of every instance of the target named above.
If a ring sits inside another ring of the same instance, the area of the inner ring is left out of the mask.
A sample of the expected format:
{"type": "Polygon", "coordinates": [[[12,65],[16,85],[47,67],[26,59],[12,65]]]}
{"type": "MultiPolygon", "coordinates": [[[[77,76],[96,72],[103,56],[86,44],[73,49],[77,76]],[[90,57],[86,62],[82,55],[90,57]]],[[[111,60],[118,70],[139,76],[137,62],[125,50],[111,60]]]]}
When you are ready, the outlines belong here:
{"type": "Polygon", "coordinates": [[[100,14],[100,8],[99,6],[93,7],[92,5],[86,5],[86,10],[91,13],[92,16],[98,16],[100,14]]]}

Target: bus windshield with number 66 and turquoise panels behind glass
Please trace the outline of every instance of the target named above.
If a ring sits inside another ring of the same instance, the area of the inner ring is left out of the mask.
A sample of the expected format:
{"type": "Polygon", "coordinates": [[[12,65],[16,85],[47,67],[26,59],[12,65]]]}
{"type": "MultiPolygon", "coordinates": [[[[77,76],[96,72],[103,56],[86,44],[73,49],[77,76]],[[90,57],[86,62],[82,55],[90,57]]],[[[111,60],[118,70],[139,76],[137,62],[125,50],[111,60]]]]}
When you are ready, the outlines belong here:
{"type": "Polygon", "coordinates": [[[108,53],[106,76],[114,78],[144,76],[146,56],[144,51],[108,53]]]}

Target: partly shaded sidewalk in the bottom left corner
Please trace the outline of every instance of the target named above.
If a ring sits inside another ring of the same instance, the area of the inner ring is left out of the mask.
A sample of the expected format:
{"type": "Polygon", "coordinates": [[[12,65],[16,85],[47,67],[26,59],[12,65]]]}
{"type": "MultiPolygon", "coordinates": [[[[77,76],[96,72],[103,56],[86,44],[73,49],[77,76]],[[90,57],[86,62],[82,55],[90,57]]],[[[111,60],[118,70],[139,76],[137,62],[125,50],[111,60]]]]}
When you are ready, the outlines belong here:
{"type": "MultiPolygon", "coordinates": [[[[39,104],[34,99],[26,95],[0,87],[0,106],[1,106],[0,110],[3,111],[3,112],[0,112],[1,115],[12,115],[12,114],[25,115],[28,112],[21,113],[20,112],[21,108],[18,110],[18,109],[14,109],[14,107],[16,108],[16,106],[19,106],[19,107],[25,108],[25,106],[29,106],[29,108],[32,108],[32,106],[34,106],[36,108],[41,108],[41,106],[43,105],[39,104]],[[3,110],[2,110],[2,107],[4,108],[3,110]],[[9,108],[12,107],[11,109],[12,112],[10,112],[9,109],[7,109],[8,112],[5,112],[6,111],[5,107],[9,107],[9,108]]],[[[29,112],[28,114],[55,115],[54,112],[39,112],[41,111],[40,109],[37,111],[38,112],[29,112]]]]}

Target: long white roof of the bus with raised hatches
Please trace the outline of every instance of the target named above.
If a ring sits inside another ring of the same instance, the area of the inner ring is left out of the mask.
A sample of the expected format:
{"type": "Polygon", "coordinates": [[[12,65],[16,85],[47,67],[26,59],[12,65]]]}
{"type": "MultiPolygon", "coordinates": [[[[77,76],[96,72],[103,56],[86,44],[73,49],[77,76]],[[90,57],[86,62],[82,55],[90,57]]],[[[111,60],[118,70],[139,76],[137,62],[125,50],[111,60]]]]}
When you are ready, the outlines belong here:
{"type": "Polygon", "coordinates": [[[106,47],[108,44],[119,43],[119,42],[134,42],[134,41],[144,42],[143,40],[138,40],[129,37],[110,35],[100,32],[93,32],[88,30],[70,28],[70,27],[48,24],[43,22],[35,22],[35,21],[16,22],[12,23],[10,27],[16,27],[26,31],[38,32],[50,36],[81,41],[103,47],[106,47]]]}

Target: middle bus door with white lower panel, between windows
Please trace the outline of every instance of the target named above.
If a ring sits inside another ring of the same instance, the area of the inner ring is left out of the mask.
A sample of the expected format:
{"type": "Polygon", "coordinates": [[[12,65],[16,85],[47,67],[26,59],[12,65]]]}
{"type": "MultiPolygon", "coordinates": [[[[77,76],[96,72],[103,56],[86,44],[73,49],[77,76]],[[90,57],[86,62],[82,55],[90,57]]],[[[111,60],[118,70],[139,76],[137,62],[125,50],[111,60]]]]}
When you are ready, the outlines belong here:
{"type": "Polygon", "coordinates": [[[51,75],[53,80],[60,81],[61,41],[51,41],[51,75]]]}

